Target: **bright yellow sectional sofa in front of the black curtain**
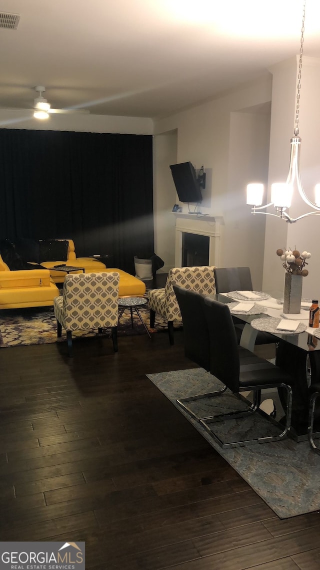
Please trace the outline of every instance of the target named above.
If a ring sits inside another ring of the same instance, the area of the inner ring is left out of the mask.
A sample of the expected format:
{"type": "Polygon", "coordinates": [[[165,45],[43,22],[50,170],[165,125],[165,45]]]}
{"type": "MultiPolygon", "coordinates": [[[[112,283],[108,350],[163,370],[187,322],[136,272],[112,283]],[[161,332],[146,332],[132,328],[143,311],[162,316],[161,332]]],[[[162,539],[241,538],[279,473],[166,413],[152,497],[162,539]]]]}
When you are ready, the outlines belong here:
{"type": "MultiPolygon", "coordinates": [[[[54,304],[59,296],[56,283],[63,283],[65,272],[55,271],[54,265],[65,263],[73,267],[84,267],[85,273],[117,271],[120,274],[119,296],[143,296],[146,286],[133,275],[116,268],[106,268],[104,263],[87,257],[76,257],[75,244],[68,240],[67,259],[44,261],[46,269],[11,271],[0,255],[0,309],[22,307],[46,307],[54,304]]],[[[79,271],[81,272],[81,271],[79,271]]]]}

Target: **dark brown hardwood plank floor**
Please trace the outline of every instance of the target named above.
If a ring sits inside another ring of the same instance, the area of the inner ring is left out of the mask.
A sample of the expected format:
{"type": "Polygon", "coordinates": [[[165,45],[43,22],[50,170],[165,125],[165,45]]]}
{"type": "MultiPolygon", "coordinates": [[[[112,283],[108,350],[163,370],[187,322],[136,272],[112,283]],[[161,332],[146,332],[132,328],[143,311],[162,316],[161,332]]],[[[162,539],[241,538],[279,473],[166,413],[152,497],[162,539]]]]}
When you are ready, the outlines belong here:
{"type": "Polygon", "coordinates": [[[278,519],[146,378],[193,367],[182,331],[118,345],[0,349],[0,540],[84,540],[91,570],[319,570],[320,514],[278,519]]]}

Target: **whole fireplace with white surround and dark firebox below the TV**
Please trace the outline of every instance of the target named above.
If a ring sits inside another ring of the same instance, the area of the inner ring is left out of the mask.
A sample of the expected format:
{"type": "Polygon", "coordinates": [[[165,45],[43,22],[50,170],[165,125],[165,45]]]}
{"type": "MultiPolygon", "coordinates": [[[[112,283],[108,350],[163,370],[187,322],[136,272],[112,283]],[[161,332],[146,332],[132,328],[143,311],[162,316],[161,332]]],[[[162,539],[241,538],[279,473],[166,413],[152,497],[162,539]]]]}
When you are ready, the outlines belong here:
{"type": "Polygon", "coordinates": [[[222,218],[183,213],[174,215],[175,267],[193,265],[219,267],[222,218]]]}

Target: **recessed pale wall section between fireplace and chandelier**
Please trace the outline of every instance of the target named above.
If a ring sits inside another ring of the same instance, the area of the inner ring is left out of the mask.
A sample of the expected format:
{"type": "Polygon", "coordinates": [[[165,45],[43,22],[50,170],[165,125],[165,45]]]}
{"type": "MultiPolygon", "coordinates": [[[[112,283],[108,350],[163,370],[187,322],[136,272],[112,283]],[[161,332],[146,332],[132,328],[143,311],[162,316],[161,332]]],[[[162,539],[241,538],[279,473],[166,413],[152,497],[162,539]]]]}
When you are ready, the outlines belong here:
{"type": "Polygon", "coordinates": [[[269,104],[251,112],[231,113],[224,266],[249,266],[257,291],[262,288],[265,216],[251,215],[246,186],[256,180],[268,181],[269,133],[269,104]],[[230,243],[233,247],[228,247],[230,243]]]}

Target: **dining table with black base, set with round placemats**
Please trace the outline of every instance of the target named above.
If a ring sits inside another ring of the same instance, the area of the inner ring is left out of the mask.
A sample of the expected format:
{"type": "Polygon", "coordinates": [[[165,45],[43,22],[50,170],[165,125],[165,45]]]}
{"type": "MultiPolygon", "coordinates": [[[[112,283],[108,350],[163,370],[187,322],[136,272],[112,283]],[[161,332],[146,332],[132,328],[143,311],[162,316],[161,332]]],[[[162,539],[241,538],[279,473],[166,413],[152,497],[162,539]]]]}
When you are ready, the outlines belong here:
{"type": "MultiPolygon", "coordinates": [[[[232,298],[231,293],[216,294],[215,299],[221,303],[232,303],[235,300],[242,303],[242,299],[232,298]]],[[[278,302],[277,295],[266,295],[266,300],[253,302],[255,304],[254,314],[249,312],[233,311],[231,314],[244,323],[241,333],[240,345],[253,351],[257,332],[264,330],[274,335],[276,343],[276,365],[292,376],[292,427],[290,437],[295,441],[305,441],[307,439],[307,427],[309,424],[309,386],[311,383],[320,380],[320,329],[310,329],[307,317],[309,313],[301,311],[300,324],[296,331],[280,331],[276,325],[282,320],[282,316],[288,318],[289,315],[282,314],[282,305],[278,302]],[[259,304],[257,304],[259,303],[259,304]],[[261,307],[261,312],[259,312],[261,307]],[[303,315],[305,312],[305,315],[303,315]],[[255,322],[256,321],[256,322],[255,322]],[[319,336],[316,336],[319,335],[319,336]]],[[[246,300],[248,302],[248,299],[246,300]]],[[[311,303],[310,303],[311,304],[311,303]]],[[[290,320],[294,316],[290,315],[290,320]]],[[[282,406],[285,406],[285,395],[279,392],[282,406]]],[[[320,414],[316,416],[315,437],[320,437],[320,414]]]]}

